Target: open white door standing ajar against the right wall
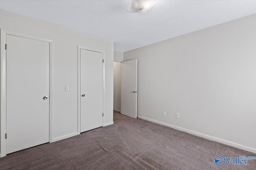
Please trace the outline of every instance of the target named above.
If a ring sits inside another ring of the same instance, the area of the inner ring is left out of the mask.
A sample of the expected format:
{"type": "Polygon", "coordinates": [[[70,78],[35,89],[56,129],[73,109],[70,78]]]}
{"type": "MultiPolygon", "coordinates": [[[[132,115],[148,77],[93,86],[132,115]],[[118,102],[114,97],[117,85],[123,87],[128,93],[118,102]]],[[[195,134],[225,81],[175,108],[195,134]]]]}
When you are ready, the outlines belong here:
{"type": "Polygon", "coordinates": [[[137,118],[137,60],[122,62],[121,113],[137,118]]]}

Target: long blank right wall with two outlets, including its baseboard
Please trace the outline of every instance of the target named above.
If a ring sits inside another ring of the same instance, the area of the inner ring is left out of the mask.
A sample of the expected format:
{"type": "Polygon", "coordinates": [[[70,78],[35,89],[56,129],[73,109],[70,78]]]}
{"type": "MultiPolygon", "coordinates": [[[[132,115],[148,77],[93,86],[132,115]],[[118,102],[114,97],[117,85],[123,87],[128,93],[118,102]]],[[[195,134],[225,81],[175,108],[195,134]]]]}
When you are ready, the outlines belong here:
{"type": "Polygon", "coordinates": [[[124,53],[132,59],[139,117],[256,152],[256,14],[124,53]]]}

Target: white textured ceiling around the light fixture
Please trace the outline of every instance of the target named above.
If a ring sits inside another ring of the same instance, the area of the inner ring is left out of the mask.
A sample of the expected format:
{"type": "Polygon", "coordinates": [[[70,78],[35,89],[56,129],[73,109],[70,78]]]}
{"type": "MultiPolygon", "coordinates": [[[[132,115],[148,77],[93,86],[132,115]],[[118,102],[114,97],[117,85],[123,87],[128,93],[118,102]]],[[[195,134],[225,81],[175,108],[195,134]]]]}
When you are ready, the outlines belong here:
{"type": "Polygon", "coordinates": [[[127,12],[130,1],[1,0],[0,8],[67,29],[114,41],[129,51],[256,14],[256,1],[162,1],[147,14],[127,12]]]}

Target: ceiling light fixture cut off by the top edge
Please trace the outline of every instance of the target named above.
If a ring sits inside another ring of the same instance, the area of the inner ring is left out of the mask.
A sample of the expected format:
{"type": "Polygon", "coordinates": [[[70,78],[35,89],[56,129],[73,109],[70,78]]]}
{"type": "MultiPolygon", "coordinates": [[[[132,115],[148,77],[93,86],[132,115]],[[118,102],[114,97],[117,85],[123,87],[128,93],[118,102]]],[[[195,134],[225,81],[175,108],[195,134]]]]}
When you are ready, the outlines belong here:
{"type": "Polygon", "coordinates": [[[147,13],[156,3],[156,0],[131,0],[128,12],[147,13]]]}

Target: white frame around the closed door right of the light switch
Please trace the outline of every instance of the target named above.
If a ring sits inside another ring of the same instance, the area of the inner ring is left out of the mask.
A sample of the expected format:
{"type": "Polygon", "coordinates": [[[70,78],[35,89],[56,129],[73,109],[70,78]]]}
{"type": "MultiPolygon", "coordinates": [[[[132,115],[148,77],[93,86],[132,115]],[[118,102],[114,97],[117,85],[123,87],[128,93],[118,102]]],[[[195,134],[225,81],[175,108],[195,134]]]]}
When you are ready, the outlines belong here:
{"type": "MultiPolygon", "coordinates": [[[[100,50],[97,50],[97,49],[91,49],[91,48],[88,48],[88,47],[82,47],[82,46],[77,46],[77,80],[78,80],[78,90],[77,90],[77,99],[78,99],[78,127],[77,127],[77,131],[78,131],[78,135],[81,133],[81,98],[80,98],[80,95],[81,95],[81,68],[80,68],[80,50],[81,49],[84,49],[84,50],[89,50],[89,51],[95,51],[95,52],[98,52],[98,53],[102,53],[103,54],[103,113],[105,113],[105,51],[100,51],[100,50]]],[[[103,117],[102,117],[102,126],[104,127],[105,126],[105,114],[103,114],[103,117]]]]}

